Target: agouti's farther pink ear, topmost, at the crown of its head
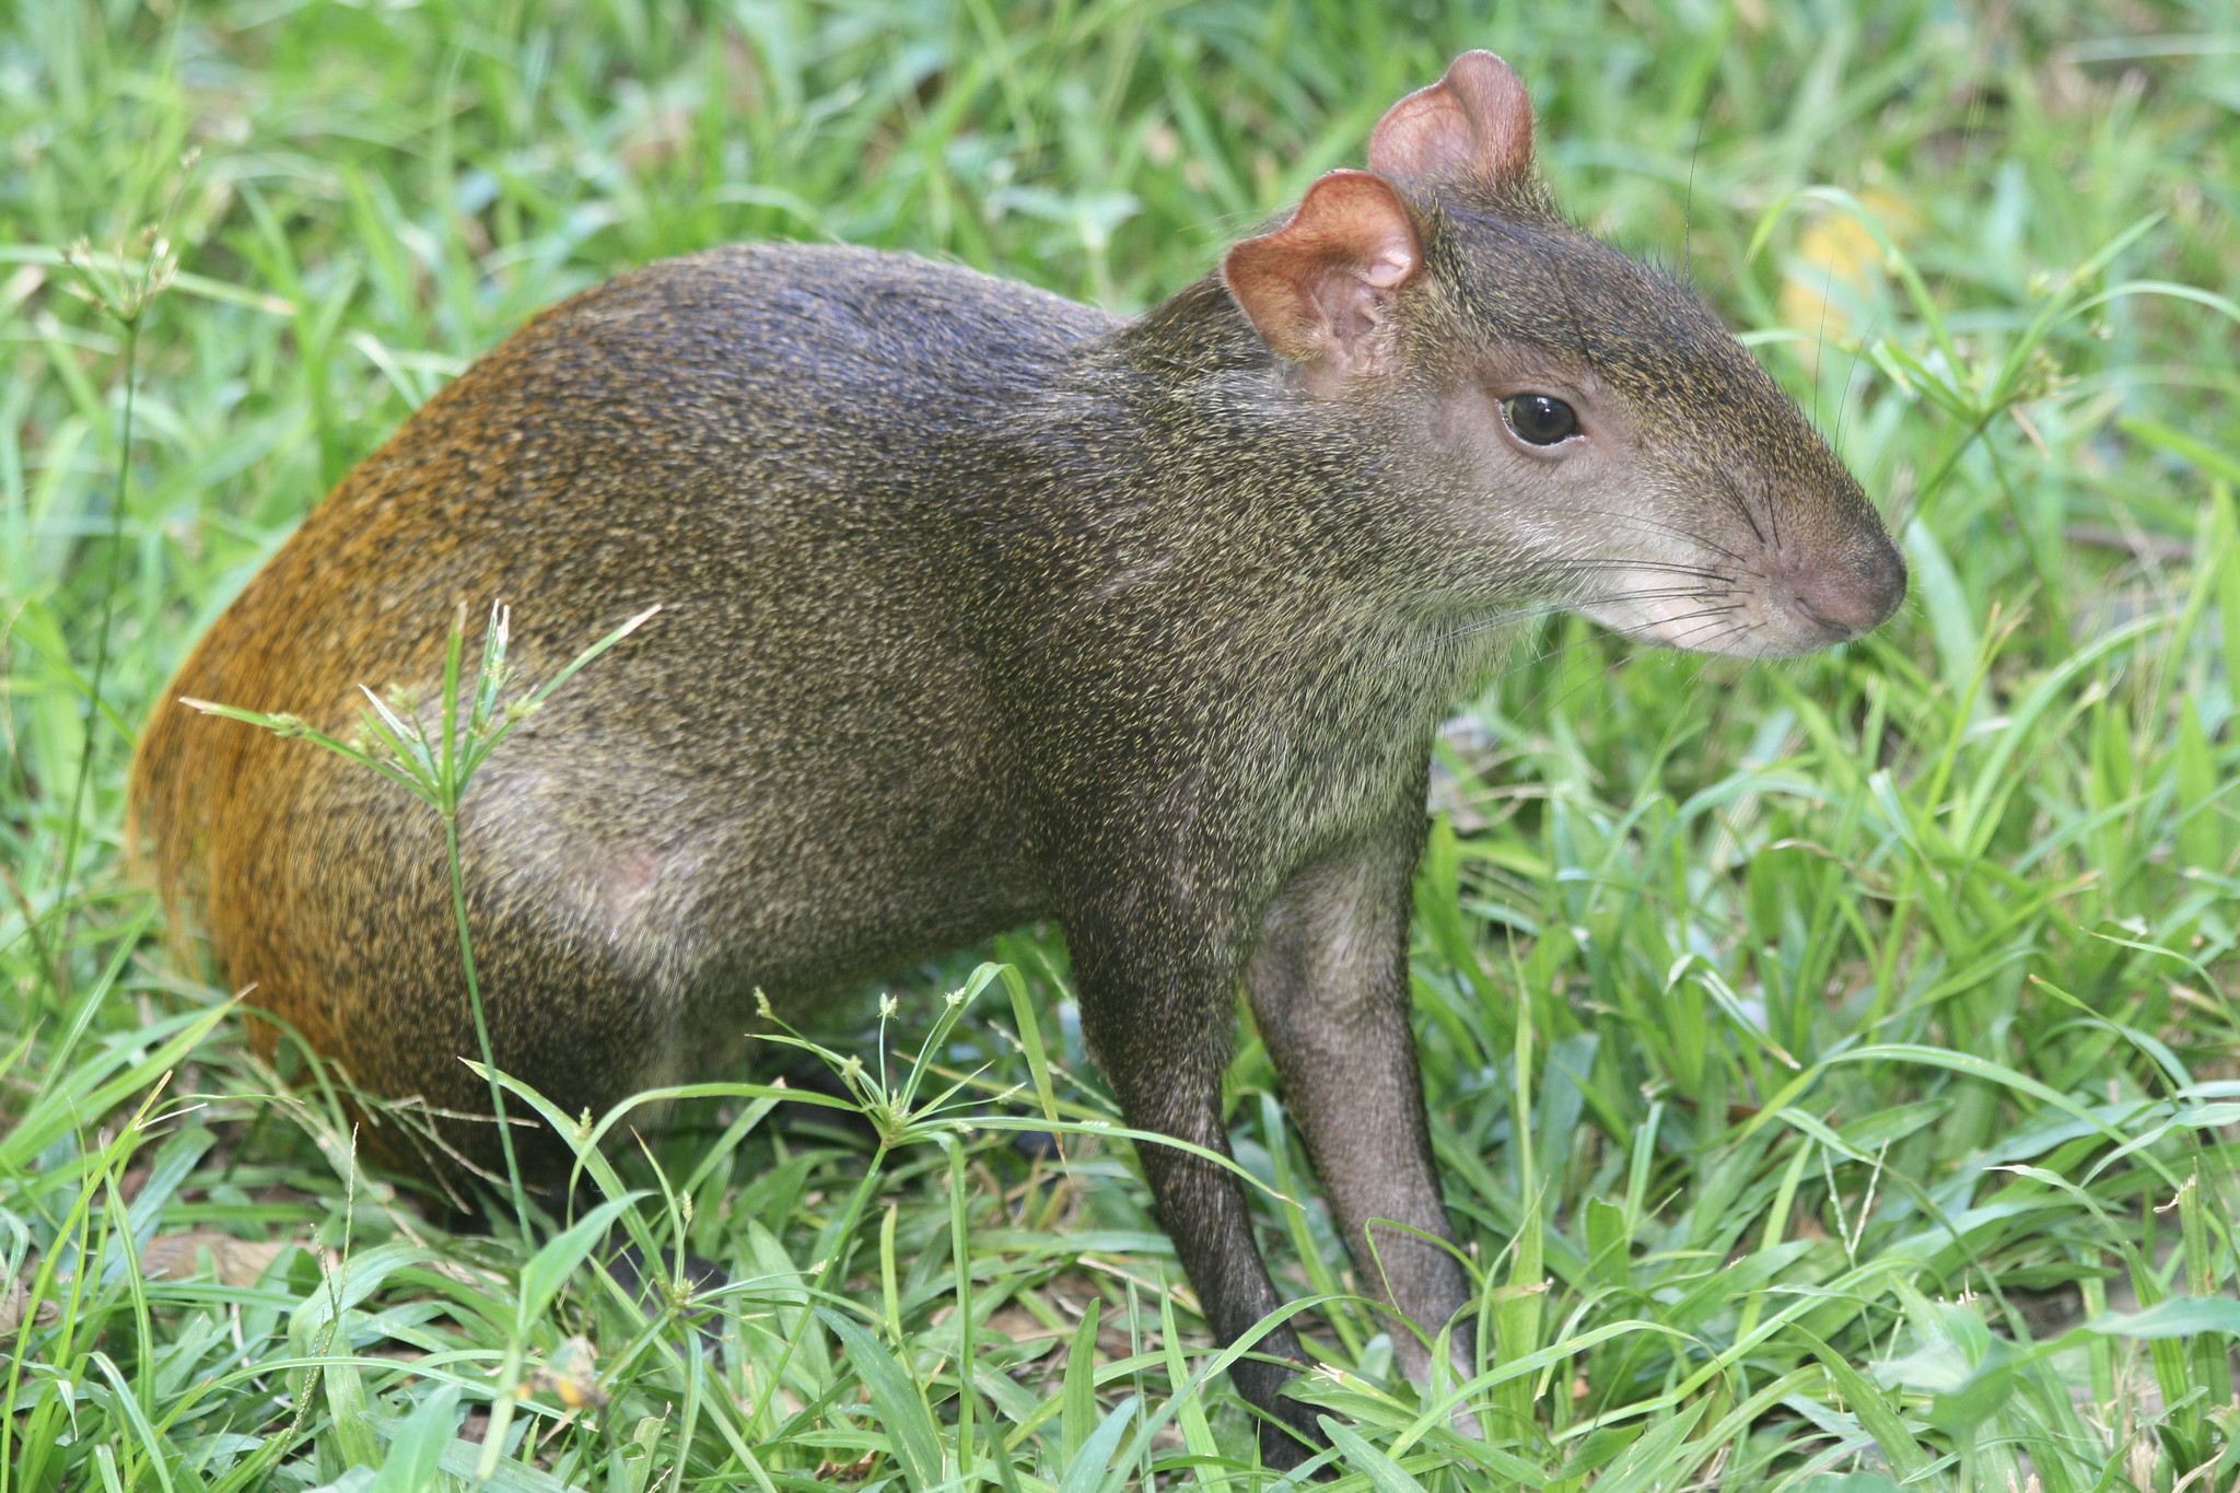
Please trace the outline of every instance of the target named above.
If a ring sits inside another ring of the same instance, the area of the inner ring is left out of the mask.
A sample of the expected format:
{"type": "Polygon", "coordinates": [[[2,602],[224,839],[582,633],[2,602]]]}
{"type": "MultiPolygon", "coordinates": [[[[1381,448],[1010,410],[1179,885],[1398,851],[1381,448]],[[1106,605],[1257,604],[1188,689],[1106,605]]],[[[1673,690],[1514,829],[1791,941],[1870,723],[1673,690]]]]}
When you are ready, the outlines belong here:
{"type": "Polygon", "coordinates": [[[1501,195],[1532,177],[1532,98],[1492,51],[1465,51],[1445,78],[1384,112],[1369,134],[1369,168],[1501,195]]]}

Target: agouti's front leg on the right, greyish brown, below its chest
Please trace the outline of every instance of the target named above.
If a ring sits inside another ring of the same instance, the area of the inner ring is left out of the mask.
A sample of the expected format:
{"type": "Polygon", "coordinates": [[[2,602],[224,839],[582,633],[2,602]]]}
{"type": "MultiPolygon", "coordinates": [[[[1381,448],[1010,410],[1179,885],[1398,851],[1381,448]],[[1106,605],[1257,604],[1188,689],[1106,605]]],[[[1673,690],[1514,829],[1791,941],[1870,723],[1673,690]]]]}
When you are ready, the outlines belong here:
{"type": "MultiPolygon", "coordinates": [[[[1400,1370],[1427,1383],[1425,1336],[1436,1341],[1469,1303],[1469,1278],[1447,1249],[1422,1238],[1454,1233],[1431,1162],[1422,1068],[1409,1027],[1407,931],[1425,833],[1420,804],[1418,795],[1382,835],[1292,875],[1268,911],[1245,985],[1284,1104],[1344,1224],[1362,1289],[1407,1318],[1393,1323],[1393,1350],[1400,1370]]],[[[1452,1350],[1456,1363],[1469,1361],[1467,1321],[1456,1323],[1452,1350]]]]}

